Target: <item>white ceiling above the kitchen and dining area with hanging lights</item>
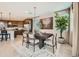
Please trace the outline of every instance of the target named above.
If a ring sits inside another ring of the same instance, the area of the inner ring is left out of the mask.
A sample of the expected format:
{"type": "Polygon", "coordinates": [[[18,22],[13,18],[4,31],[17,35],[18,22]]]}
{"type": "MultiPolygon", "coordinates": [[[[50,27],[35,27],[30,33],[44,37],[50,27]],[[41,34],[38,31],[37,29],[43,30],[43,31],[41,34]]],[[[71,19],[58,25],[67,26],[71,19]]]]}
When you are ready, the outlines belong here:
{"type": "Polygon", "coordinates": [[[71,4],[71,2],[0,2],[0,12],[2,12],[2,18],[9,19],[9,12],[11,12],[12,19],[21,20],[32,17],[34,7],[36,7],[36,15],[40,16],[66,9],[71,4]]]}

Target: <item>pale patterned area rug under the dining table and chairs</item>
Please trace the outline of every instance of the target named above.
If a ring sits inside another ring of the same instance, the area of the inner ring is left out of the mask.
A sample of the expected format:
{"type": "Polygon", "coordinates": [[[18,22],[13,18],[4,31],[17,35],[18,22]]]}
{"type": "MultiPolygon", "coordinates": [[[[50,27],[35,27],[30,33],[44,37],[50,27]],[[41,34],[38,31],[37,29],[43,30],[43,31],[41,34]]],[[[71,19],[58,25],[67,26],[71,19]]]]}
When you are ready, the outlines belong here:
{"type": "Polygon", "coordinates": [[[25,44],[22,46],[21,42],[12,42],[12,46],[23,57],[55,57],[55,54],[52,53],[52,48],[49,46],[39,49],[38,45],[36,45],[35,52],[33,51],[33,46],[30,45],[29,48],[26,48],[25,44]]]}

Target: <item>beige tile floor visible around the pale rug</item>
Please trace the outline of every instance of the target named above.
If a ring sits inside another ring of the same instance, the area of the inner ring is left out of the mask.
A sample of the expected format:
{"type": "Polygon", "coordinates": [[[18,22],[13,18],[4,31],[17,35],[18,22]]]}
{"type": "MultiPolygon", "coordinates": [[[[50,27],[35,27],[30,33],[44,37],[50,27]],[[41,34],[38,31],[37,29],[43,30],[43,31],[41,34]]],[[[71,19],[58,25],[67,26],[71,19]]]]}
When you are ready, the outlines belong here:
{"type": "MultiPolygon", "coordinates": [[[[16,43],[21,43],[22,36],[17,36],[15,39],[16,43]]],[[[0,42],[0,57],[21,57],[22,55],[11,45],[11,41],[8,40],[0,42]]],[[[56,57],[71,57],[72,47],[68,44],[58,44],[56,50],[56,57]]]]}

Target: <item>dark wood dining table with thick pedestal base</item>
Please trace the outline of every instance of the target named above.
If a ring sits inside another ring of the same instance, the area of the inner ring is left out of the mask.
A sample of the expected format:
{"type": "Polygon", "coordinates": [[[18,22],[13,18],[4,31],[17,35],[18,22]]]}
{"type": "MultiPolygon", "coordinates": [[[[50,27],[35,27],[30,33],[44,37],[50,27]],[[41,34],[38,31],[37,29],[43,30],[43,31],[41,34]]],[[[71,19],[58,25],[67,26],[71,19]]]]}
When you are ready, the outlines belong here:
{"type": "Polygon", "coordinates": [[[41,49],[42,47],[44,47],[45,43],[44,41],[46,39],[48,39],[49,37],[51,37],[53,34],[51,33],[35,33],[35,38],[39,39],[39,48],[41,49]]]}

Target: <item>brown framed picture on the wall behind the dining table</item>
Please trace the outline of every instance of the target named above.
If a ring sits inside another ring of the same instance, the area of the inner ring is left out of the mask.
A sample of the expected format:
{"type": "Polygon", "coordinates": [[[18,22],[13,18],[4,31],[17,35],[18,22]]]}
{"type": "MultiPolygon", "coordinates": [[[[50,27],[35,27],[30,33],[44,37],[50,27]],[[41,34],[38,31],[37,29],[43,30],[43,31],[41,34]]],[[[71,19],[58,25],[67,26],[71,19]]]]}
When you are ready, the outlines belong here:
{"type": "Polygon", "coordinates": [[[53,29],[53,17],[40,19],[41,29],[53,29]]]}

